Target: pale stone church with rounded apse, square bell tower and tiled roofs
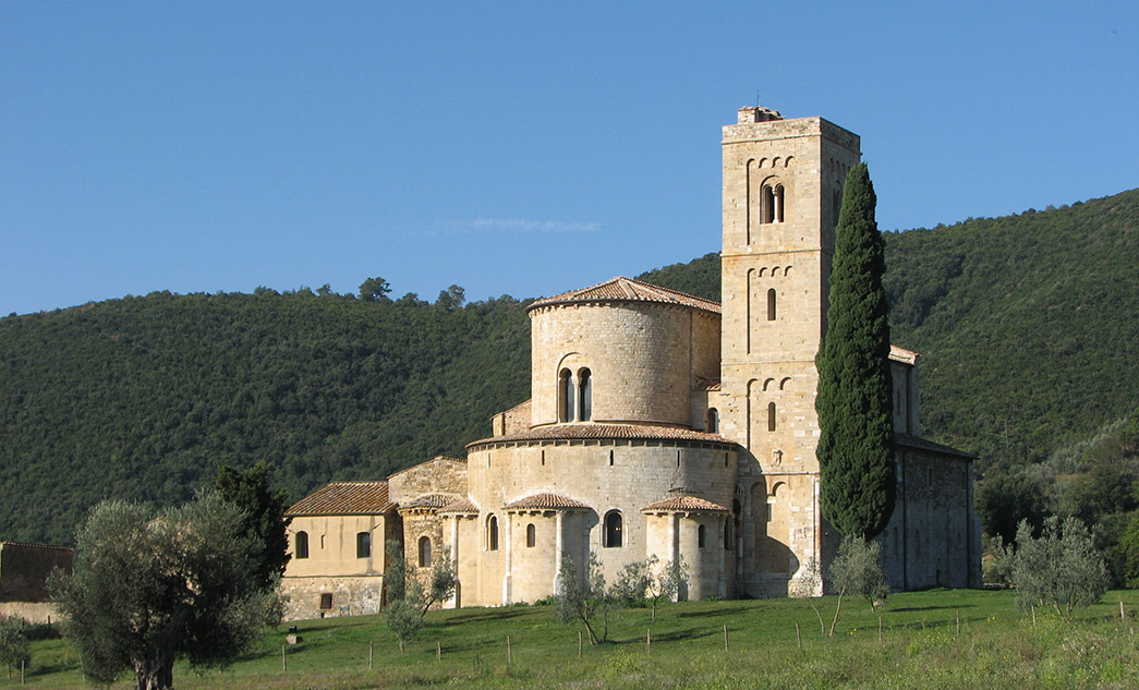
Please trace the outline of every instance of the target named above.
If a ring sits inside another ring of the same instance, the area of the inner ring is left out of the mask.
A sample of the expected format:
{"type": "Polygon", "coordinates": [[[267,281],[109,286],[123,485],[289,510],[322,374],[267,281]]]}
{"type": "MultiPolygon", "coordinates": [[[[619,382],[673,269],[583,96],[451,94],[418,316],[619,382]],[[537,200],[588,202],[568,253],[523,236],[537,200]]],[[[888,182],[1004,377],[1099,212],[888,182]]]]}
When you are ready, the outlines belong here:
{"type": "MultiPolygon", "coordinates": [[[[746,107],[722,149],[722,304],[629,278],[532,303],[532,397],[494,416],[466,460],[329,484],[289,509],[290,616],[378,610],[385,540],[412,570],[445,550],[451,606],[542,599],[566,559],[590,555],[611,582],[629,562],[682,558],[689,599],[782,597],[812,564],[826,570],[841,535],[819,509],[814,355],[859,138],[746,107]]],[[[918,355],[890,359],[887,578],[980,586],[973,457],[920,437],[918,355]]]]}

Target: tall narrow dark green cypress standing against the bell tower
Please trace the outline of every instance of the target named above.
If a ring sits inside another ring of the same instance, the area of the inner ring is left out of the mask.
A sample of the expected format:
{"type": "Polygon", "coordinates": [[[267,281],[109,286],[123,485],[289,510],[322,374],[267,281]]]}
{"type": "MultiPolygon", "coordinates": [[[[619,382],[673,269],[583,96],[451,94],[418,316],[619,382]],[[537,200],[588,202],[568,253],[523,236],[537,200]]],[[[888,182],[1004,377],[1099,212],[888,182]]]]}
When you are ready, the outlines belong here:
{"type": "Polygon", "coordinates": [[[894,477],[886,262],[865,163],[846,175],[835,232],[827,332],[816,358],[822,515],[846,536],[869,540],[890,520],[894,477]]]}

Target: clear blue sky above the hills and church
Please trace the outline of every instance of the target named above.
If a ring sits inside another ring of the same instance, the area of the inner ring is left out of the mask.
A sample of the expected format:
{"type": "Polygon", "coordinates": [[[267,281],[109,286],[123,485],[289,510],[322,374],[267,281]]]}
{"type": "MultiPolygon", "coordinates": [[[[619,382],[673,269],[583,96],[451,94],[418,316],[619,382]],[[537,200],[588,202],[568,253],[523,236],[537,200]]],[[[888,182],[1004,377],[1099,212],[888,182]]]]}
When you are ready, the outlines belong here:
{"type": "Polygon", "coordinates": [[[756,93],[862,137],[883,230],[1139,187],[1133,1],[928,5],[3,2],[0,314],[687,262],[756,93]]]}

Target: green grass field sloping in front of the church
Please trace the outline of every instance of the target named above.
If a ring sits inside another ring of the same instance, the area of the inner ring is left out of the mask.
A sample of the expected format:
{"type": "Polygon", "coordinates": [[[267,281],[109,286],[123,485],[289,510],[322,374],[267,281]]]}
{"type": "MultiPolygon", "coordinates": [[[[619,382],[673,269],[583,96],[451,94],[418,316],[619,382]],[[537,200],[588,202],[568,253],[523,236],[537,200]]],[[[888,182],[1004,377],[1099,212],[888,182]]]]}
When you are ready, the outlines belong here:
{"type": "MultiPolygon", "coordinates": [[[[934,590],[895,594],[879,614],[846,600],[834,638],[836,599],[682,602],[621,609],[609,642],[577,652],[575,626],[548,607],[433,611],[401,654],[378,616],[297,624],[226,671],[174,670],[187,689],[364,688],[1139,688],[1139,591],[1109,592],[1071,622],[1016,610],[1011,592],[934,590]],[[1126,621],[1120,617],[1123,601],[1126,621]],[[958,633],[958,619],[960,632],[958,633]],[[802,642],[796,639],[796,623],[802,642]],[[727,644],[724,650],[724,629],[727,644]],[[646,639],[652,630],[652,647],[646,639]],[[509,658],[507,638],[510,640],[509,658]],[[368,668],[369,644],[372,668],[368,668]]],[[[18,674],[0,687],[18,687],[18,674]]],[[[117,687],[129,687],[124,677],[117,687]]],[[[31,688],[85,688],[66,640],[32,648],[31,688]]]]}

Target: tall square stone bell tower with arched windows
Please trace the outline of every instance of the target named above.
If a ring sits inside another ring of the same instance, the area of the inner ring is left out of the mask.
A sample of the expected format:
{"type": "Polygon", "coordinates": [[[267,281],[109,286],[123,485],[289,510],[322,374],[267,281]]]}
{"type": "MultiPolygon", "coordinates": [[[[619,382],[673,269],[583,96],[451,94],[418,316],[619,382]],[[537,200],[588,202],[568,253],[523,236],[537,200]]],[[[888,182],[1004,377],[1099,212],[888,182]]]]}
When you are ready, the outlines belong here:
{"type": "Polygon", "coordinates": [[[820,555],[814,355],[826,331],[835,225],[859,138],[821,117],[738,110],[723,128],[721,435],[740,458],[743,583],[786,594],[820,555]]]}

